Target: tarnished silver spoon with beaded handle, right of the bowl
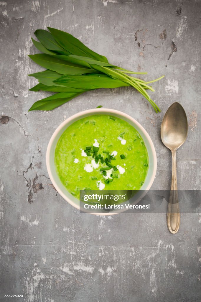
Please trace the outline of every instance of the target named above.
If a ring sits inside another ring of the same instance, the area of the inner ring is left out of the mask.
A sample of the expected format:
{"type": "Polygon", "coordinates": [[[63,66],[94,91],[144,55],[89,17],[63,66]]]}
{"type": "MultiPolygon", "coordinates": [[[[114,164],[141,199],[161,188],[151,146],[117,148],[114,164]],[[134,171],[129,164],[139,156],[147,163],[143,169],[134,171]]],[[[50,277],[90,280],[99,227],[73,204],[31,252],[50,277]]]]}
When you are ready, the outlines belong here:
{"type": "Polygon", "coordinates": [[[172,152],[172,182],[167,214],[168,229],[172,234],[178,232],[180,225],[176,151],[185,142],[187,133],[186,113],[181,104],[173,103],[166,111],[161,124],[161,140],[172,152]]]}

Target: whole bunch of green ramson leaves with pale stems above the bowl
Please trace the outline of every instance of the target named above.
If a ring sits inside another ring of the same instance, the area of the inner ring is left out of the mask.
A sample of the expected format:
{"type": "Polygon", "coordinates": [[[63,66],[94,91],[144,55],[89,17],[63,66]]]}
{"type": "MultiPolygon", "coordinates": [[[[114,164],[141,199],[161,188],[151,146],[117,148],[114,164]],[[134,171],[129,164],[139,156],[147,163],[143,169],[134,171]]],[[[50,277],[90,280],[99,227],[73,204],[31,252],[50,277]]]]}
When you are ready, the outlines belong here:
{"type": "Polygon", "coordinates": [[[42,53],[29,57],[46,68],[45,71],[32,73],[38,79],[38,84],[30,91],[56,92],[48,98],[35,102],[29,111],[52,110],[72,100],[83,92],[97,88],[116,88],[132,86],[136,88],[153,106],[155,112],[160,109],[150,98],[147,89],[154,91],[149,83],[128,74],[147,74],[147,72],[132,72],[108,63],[105,56],[95,53],[81,41],[64,31],[48,27],[49,31],[35,31],[37,39],[32,39],[35,47],[42,53]]]}

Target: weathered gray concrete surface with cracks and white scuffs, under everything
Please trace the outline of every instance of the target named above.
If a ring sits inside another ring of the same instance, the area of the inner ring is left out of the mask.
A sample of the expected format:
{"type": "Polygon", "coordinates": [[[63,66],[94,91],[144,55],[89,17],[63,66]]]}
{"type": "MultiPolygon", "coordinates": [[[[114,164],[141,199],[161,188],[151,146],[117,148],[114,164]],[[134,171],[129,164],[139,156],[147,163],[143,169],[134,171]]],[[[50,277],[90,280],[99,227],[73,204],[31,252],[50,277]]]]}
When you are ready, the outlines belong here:
{"type": "Polygon", "coordinates": [[[165,214],[80,214],[56,194],[45,154],[56,127],[78,111],[103,105],[136,118],[158,156],[154,189],[168,189],[171,154],[160,140],[174,101],[189,133],[178,151],[178,186],[200,189],[199,0],[9,0],[0,2],[0,286],[1,301],[200,301],[201,214],[181,214],[171,235],[165,214]],[[30,112],[48,95],[28,92],[27,74],[42,68],[30,37],[37,28],[70,32],[110,62],[161,75],[151,106],[133,88],[96,90],[51,112],[30,112]],[[18,97],[13,93],[18,94],[18,97]],[[23,294],[23,298],[5,298],[23,294]]]}

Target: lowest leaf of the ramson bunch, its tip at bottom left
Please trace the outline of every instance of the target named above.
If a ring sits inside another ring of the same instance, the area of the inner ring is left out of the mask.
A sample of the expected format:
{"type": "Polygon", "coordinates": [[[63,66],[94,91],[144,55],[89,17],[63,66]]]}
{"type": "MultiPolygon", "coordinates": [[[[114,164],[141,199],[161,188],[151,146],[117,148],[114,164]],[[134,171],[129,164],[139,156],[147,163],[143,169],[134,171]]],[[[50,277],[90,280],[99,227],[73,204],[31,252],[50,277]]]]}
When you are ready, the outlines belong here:
{"type": "Polygon", "coordinates": [[[39,100],[31,106],[29,111],[33,111],[33,110],[43,110],[43,111],[44,110],[53,110],[54,108],[57,108],[57,107],[65,104],[66,102],[72,100],[73,98],[80,95],[81,93],[82,92],[75,93],[71,97],[67,97],[67,98],[55,98],[55,99],[52,99],[52,100],[47,100],[47,98],[45,98],[45,99],[39,100]]]}

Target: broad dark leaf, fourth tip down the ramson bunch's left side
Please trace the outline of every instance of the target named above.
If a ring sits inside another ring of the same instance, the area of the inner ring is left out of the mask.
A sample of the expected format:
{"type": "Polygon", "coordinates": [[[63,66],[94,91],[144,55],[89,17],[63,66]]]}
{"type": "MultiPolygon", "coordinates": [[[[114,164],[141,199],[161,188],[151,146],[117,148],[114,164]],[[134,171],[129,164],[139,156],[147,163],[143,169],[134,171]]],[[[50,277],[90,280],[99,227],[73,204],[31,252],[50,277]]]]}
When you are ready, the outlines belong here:
{"type": "Polygon", "coordinates": [[[63,75],[64,74],[80,75],[84,73],[93,72],[92,69],[83,68],[82,66],[78,66],[73,63],[57,59],[57,56],[50,56],[44,53],[38,53],[36,55],[29,55],[29,57],[40,66],[56,71],[63,75]]]}

